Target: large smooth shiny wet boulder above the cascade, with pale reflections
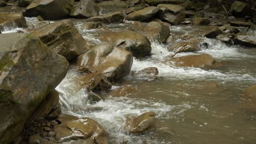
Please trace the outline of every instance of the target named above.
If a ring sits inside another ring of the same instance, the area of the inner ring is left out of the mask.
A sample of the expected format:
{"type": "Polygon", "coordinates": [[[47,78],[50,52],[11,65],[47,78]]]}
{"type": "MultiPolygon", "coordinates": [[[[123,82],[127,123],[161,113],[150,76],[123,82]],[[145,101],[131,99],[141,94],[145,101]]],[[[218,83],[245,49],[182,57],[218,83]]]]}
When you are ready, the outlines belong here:
{"type": "Polygon", "coordinates": [[[108,80],[115,81],[130,73],[132,61],[131,52],[110,44],[100,44],[80,55],[76,65],[94,68],[106,75],[108,80]]]}

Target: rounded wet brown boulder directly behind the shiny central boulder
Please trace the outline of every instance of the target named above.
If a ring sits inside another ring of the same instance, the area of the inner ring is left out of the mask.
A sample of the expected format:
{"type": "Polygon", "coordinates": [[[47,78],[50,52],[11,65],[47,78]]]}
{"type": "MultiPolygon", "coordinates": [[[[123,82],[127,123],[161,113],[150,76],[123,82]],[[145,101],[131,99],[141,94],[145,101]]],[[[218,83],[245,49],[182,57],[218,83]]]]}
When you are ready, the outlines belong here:
{"type": "Polygon", "coordinates": [[[102,34],[100,39],[130,51],[134,57],[148,56],[151,52],[149,39],[140,33],[132,31],[109,32],[102,34]]]}

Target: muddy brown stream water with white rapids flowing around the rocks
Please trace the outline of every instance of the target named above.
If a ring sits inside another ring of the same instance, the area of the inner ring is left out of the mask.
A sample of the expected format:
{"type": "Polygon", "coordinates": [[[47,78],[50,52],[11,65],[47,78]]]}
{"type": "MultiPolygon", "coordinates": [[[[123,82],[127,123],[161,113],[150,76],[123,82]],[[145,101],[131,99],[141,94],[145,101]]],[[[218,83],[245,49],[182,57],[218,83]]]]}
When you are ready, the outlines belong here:
{"type": "MultiPolygon", "coordinates": [[[[27,18],[27,21],[31,24],[35,19],[27,18]]],[[[86,41],[101,43],[97,34],[104,29],[86,30],[83,21],[73,21],[86,41]]],[[[126,22],[109,25],[107,29],[123,31],[132,25],[126,22]]],[[[131,86],[130,94],[114,97],[102,92],[104,99],[91,104],[88,91],[75,85],[74,79],[79,74],[71,67],[56,88],[60,92],[62,112],[95,119],[107,131],[109,143],[255,143],[256,113],[247,109],[252,104],[243,98],[243,89],[256,83],[256,49],[202,38],[198,32],[200,27],[171,26],[170,29],[173,34],[201,38],[208,46],[202,46],[197,53],[208,53],[224,66],[218,69],[175,67],[166,62],[168,56],[173,55],[167,51],[167,45],[151,40],[152,56],[134,58],[132,70],[157,67],[158,79],[129,75],[114,83],[112,90],[131,86]],[[147,111],[156,113],[155,128],[140,135],[126,134],[125,116],[147,111]]],[[[256,37],[255,31],[249,33],[256,37]]]]}

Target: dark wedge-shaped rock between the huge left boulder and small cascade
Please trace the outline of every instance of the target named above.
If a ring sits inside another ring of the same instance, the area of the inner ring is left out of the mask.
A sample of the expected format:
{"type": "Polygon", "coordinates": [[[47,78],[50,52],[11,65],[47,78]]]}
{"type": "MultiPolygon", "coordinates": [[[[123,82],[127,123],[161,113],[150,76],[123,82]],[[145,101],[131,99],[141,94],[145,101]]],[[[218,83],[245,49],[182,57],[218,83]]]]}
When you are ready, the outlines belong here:
{"type": "MultiPolygon", "coordinates": [[[[54,90],[49,93],[44,100],[37,106],[33,111],[32,115],[27,119],[27,122],[30,123],[37,119],[44,119],[48,117],[51,112],[59,108],[59,92],[54,90]]],[[[60,114],[60,113],[59,113],[60,114]]],[[[57,118],[57,116],[55,117],[57,118]]]]}

